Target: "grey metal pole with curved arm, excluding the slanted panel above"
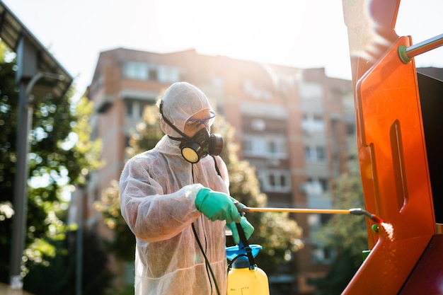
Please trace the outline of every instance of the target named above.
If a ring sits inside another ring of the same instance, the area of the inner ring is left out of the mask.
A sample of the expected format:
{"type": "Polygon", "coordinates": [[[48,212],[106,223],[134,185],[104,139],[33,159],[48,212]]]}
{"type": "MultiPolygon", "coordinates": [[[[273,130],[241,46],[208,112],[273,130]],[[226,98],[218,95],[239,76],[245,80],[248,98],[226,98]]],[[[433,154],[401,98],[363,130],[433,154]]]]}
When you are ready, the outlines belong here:
{"type": "Polygon", "coordinates": [[[13,224],[11,237],[11,288],[23,289],[21,274],[23,249],[26,235],[26,214],[28,212],[28,153],[29,132],[33,122],[33,96],[31,91],[35,83],[43,77],[63,80],[64,76],[52,73],[38,73],[29,83],[21,83],[18,93],[18,130],[16,153],[16,180],[13,197],[13,224]]]}

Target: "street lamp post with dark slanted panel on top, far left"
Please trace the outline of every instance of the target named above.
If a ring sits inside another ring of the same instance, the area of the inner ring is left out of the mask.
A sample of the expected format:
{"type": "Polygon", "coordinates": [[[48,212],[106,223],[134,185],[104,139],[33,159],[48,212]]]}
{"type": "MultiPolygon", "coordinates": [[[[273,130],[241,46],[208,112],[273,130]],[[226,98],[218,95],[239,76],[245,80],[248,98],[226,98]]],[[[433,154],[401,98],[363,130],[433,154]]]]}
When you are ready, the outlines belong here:
{"type": "Polygon", "coordinates": [[[28,136],[32,126],[32,93],[39,97],[52,93],[61,98],[73,78],[45,46],[23,25],[20,19],[0,0],[0,39],[16,52],[16,85],[18,97],[18,129],[16,152],[16,183],[13,195],[13,231],[11,234],[11,287],[23,288],[21,275],[28,205],[28,136]],[[58,73],[58,74],[54,74],[58,73]],[[40,79],[56,79],[52,85],[38,83],[40,79]],[[37,87],[34,87],[37,86],[37,87]]]}

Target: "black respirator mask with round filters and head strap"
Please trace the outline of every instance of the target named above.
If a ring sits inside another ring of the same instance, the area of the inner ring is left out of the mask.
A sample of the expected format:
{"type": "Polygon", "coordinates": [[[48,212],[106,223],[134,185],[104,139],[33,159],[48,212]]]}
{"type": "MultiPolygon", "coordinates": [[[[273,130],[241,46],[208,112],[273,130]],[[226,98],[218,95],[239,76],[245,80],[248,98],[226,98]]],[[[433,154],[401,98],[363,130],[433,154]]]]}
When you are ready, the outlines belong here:
{"type": "Polygon", "coordinates": [[[182,136],[182,138],[171,137],[169,135],[168,137],[181,141],[180,151],[186,161],[195,164],[207,155],[219,156],[223,149],[222,135],[210,134],[206,127],[204,127],[194,134],[193,137],[188,137],[188,135],[181,132],[180,129],[174,126],[172,122],[163,115],[162,107],[163,101],[160,103],[160,114],[163,117],[163,120],[182,136]]]}

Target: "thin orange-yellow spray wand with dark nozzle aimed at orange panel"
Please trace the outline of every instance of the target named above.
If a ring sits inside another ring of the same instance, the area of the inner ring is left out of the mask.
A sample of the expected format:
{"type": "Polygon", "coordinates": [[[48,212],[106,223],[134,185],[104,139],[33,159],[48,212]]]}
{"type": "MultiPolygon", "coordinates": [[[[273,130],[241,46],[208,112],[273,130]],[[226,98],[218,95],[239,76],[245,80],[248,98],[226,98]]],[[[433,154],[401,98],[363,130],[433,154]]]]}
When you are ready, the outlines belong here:
{"type": "Polygon", "coordinates": [[[246,212],[290,212],[290,213],[318,213],[318,214],[353,214],[353,215],[365,215],[369,217],[374,223],[381,224],[383,220],[371,214],[362,208],[352,209],[300,209],[300,208],[251,208],[251,207],[238,207],[238,211],[241,213],[246,212]]]}

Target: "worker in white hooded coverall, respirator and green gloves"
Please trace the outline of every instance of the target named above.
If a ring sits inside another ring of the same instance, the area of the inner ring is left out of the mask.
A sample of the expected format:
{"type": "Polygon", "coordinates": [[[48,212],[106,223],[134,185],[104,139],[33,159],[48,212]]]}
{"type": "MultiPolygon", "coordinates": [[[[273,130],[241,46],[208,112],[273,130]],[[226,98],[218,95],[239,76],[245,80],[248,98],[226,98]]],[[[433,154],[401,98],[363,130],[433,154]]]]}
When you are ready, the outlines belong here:
{"type": "Polygon", "coordinates": [[[120,177],[122,216],[136,236],[135,294],[225,295],[225,224],[235,243],[236,223],[246,238],[253,226],[229,196],[222,137],[210,134],[214,110],[186,82],[170,86],[159,108],[166,135],[120,177]]]}

